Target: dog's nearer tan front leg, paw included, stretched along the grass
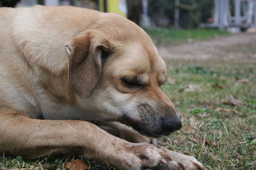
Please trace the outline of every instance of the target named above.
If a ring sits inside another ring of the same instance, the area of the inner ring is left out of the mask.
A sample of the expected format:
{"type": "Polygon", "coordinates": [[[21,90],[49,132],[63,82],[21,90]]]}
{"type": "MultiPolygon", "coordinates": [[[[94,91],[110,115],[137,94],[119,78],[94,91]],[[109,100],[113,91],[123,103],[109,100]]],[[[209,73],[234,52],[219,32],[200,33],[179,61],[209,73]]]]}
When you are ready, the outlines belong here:
{"type": "Polygon", "coordinates": [[[0,136],[0,152],[31,158],[74,150],[121,169],[156,167],[170,160],[161,148],[129,143],[79,120],[37,120],[19,112],[0,113],[0,136]]]}

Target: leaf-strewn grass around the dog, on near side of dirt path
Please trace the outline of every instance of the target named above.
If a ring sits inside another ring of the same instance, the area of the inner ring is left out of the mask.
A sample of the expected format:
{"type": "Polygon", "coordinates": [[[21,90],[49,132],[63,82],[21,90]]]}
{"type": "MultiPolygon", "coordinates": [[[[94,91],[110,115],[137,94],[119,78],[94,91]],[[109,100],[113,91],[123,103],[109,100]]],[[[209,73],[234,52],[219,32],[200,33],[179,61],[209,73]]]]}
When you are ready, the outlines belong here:
{"type": "MultiPolygon", "coordinates": [[[[168,62],[168,77],[172,80],[163,85],[163,90],[179,110],[184,127],[196,132],[180,130],[161,138],[161,145],[195,156],[207,169],[256,169],[255,74],[256,68],[251,63],[168,62]],[[186,91],[188,85],[193,85],[195,91],[186,91]],[[229,95],[243,104],[223,104],[229,95]]],[[[39,161],[48,167],[63,169],[63,162],[71,158],[67,155],[41,160],[0,157],[0,169],[38,167],[39,161]]],[[[88,164],[92,169],[114,169],[97,162],[88,164]]]]}

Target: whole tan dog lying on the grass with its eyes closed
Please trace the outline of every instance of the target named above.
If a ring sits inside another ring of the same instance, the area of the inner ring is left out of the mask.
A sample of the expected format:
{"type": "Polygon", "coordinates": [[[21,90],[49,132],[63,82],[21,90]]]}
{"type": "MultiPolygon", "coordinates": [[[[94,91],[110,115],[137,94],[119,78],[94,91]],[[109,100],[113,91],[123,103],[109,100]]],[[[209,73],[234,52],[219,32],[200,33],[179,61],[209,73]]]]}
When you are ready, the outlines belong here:
{"type": "Polygon", "coordinates": [[[136,24],[70,6],[1,8],[0,16],[0,152],[75,151],[122,169],[203,168],[141,143],[150,141],[141,134],[170,134],[181,123],[159,88],[166,66],[136,24]]]}

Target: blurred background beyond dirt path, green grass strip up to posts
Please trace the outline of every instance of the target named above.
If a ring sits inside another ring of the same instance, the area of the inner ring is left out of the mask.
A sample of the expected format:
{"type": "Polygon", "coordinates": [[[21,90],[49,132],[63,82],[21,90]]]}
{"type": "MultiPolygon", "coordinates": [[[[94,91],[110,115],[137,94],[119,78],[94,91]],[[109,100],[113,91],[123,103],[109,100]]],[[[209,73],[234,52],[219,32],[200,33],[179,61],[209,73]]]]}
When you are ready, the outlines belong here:
{"type": "Polygon", "coordinates": [[[143,27],[156,45],[256,32],[256,0],[0,0],[8,7],[36,4],[118,13],[143,27]]]}

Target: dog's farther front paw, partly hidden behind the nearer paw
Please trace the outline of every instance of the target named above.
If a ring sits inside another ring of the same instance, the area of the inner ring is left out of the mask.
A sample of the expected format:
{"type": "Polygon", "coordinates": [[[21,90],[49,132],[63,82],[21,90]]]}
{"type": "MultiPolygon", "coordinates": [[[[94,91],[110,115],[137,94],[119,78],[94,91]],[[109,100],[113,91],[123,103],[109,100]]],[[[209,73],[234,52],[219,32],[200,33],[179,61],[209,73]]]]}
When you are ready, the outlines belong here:
{"type": "Polygon", "coordinates": [[[167,164],[163,164],[156,169],[172,169],[172,170],[203,170],[205,167],[198,162],[194,157],[189,155],[184,155],[182,153],[177,153],[170,151],[166,148],[161,147],[168,155],[171,157],[171,161],[168,161],[167,164]]]}

